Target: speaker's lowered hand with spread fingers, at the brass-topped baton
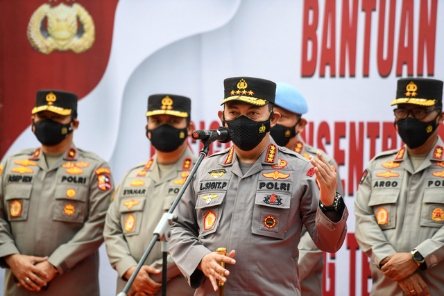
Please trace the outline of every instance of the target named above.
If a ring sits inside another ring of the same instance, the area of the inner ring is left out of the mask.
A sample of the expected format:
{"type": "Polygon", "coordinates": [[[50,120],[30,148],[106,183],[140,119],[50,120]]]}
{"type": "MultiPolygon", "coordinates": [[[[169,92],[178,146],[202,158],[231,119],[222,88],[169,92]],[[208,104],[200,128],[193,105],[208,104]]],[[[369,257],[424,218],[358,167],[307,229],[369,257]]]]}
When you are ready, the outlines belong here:
{"type": "Polygon", "coordinates": [[[228,264],[235,264],[236,260],[233,259],[236,252],[232,250],[227,256],[219,255],[217,252],[208,253],[203,256],[203,259],[198,265],[198,269],[202,270],[203,274],[211,281],[213,289],[216,291],[218,287],[217,281],[220,279],[224,283],[227,281],[225,277],[221,275],[230,275],[230,271],[221,266],[221,262],[228,264]]]}

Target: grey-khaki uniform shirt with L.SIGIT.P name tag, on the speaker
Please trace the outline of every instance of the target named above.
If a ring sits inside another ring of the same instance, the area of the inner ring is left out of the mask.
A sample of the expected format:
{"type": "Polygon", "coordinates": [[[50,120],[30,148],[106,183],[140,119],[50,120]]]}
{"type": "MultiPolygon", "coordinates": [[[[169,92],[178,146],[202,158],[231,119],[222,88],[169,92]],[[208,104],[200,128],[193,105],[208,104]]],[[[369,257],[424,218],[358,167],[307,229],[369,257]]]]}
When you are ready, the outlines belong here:
{"type": "Polygon", "coordinates": [[[297,153],[268,148],[243,175],[234,146],[203,160],[176,208],[170,252],[195,295],[218,295],[196,269],[206,254],[236,250],[225,295],[300,295],[298,243],[302,225],[318,247],[336,252],[346,234],[318,208],[311,164],[297,153]]]}

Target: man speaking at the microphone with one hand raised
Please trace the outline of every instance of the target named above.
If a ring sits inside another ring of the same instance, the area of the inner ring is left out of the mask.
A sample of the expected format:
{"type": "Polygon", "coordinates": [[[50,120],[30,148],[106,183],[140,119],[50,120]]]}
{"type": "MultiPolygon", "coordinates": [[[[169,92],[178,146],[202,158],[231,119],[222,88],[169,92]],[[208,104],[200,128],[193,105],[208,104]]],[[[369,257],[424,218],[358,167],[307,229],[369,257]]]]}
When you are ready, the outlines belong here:
{"type": "Polygon", "coordinates": [[[327,252],[345,238],[336,173],[320,153],[307,160],[271,139],[280,118],[274,82],[238,77],[224,87],[219,118],[233,146],[205,158],[191,180],[175,211],[171,256],[195,295],[217,295],[219,279],[225,295],[300,295],[302,225],[327,252]]]}

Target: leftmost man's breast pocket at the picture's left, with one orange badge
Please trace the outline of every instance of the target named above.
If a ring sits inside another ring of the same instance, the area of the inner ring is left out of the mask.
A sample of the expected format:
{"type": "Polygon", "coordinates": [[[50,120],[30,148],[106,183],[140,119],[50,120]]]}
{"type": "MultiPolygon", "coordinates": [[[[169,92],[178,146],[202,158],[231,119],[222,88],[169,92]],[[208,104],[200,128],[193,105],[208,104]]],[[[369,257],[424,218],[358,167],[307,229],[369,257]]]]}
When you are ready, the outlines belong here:
{"type": "Polygon", "coordinates": [[[8,184],[5,189],[5,207],[8,219],[24,221],[28,219],[29,198],[31,198],[32,184],[8,184]]]}

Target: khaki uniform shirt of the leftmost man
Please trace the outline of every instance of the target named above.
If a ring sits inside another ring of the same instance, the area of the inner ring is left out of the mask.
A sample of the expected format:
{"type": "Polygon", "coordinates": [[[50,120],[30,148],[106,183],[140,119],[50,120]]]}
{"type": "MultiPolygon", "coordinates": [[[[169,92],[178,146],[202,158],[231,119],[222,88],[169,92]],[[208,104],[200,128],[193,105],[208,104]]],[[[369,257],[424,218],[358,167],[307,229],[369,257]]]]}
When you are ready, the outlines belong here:
{"type": "Polygon", "coordinates": [[[10,254],[49,256],[60,275],[48,290],[18,288],[6,270],[5,295],[99,295],[99,246],[114,189],[108,164],[74,144],[52,168],[40,148],[6,158],[0,175],[0,263],[10,254]]]}

